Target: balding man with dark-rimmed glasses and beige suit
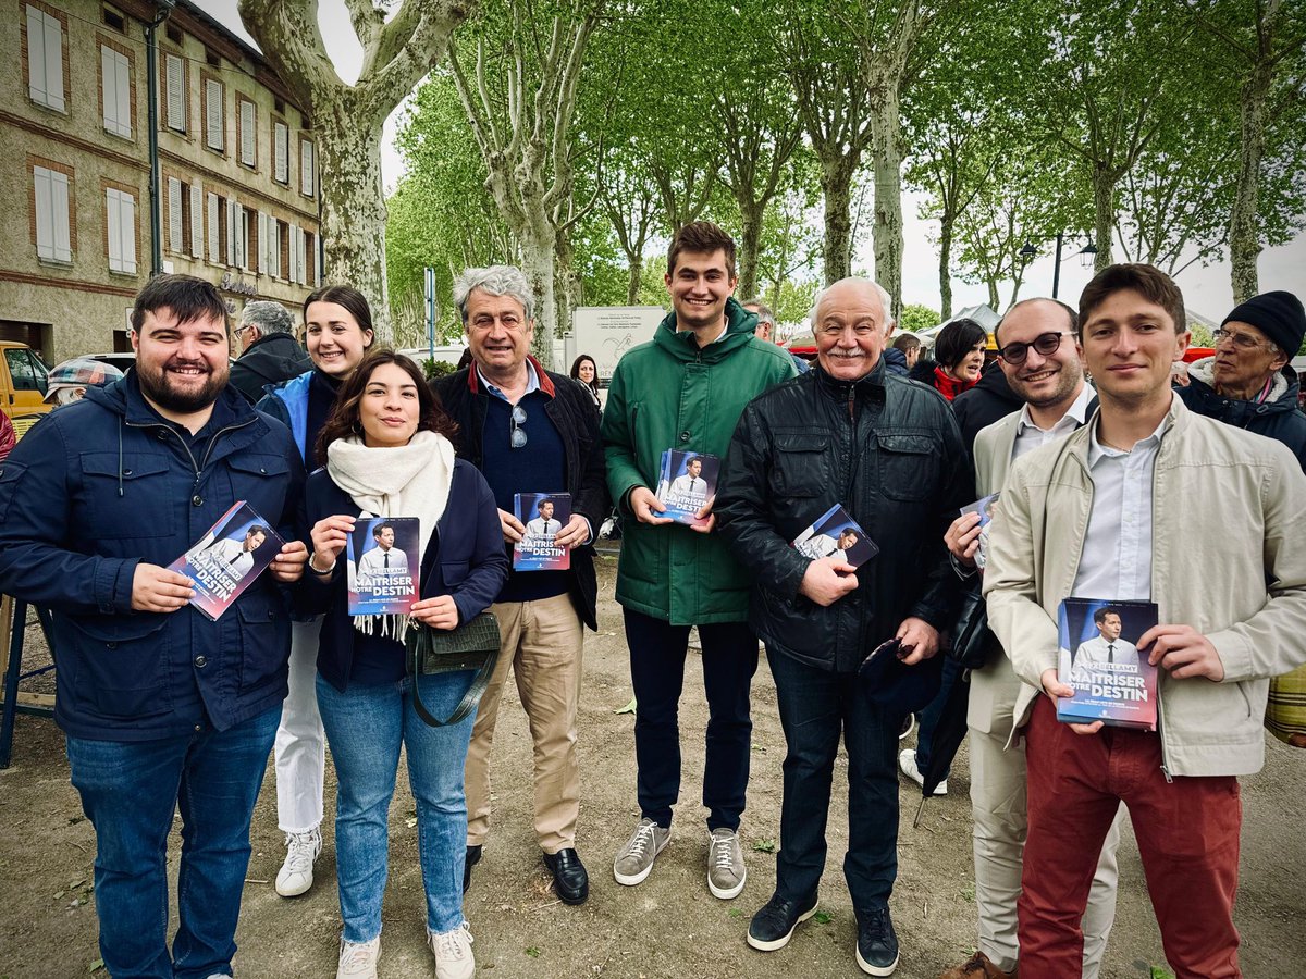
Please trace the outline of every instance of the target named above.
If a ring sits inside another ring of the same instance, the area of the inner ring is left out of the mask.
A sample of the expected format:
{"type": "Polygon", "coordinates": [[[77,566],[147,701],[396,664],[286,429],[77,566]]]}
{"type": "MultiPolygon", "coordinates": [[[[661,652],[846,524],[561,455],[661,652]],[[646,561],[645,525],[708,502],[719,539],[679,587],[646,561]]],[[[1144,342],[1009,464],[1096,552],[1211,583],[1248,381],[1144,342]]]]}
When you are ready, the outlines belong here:
{"type": "MultiPolygon", "coordinates": [[[[1096,399],[1079,359],[1079,317],[1055,299],[1027,299],[998,324],[998,365],[1007,384],[1025,402],[980,431],[974,441],[976,493],[999,491],[1011,463],[1084,424],[1096,399]]],[[[1002,520],[1002,501],[995,520],[1002,520]]],[[[955,567],[976,573],[982,547],[980,514],[957,517],[944,538],[955,567]]],[[[1011,740],[1020,679],[1000,649],[970,671],[970,809],[974,820],[976,911],[980,946],[939,979],[1010,979],[1016,974],[1016,898],[1025,848],[1025,751],[1011,740]]],[[[1113,826],[1102,848],[1084,915],[1084,979],[1096,979],[1115,915],[1115,847],[1113,826]]]]}

